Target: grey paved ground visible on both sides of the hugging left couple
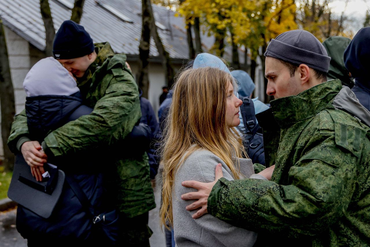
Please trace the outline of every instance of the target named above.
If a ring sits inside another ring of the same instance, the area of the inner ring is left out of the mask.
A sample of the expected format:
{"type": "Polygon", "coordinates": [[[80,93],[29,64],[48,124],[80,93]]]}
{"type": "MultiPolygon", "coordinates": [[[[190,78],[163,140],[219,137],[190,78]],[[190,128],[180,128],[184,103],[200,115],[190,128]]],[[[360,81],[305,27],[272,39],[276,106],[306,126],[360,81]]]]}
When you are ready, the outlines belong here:
{"type": "MultiPolygon", "coordinates": [[[[160,205],[160,191],[154,188],[157,207],[149,211],[149,227],[153,235],[149,238],[151,247],[165,247],[165,236],[159,227],[158,211],[160,205]]],[[[16,229],[16,210],[0,212],[0,247],[27,247],[27,240],[22,238],[16,229]]]]}

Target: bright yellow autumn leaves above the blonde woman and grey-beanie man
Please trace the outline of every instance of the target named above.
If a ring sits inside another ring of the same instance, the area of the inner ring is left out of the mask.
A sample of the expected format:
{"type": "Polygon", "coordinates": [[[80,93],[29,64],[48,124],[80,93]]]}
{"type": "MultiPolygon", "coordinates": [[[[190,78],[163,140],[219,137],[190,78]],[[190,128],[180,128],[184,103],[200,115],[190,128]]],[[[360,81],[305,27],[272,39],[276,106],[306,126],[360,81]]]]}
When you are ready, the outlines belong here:
{"type": "Polygon", "coordinates": [[[199,17],[209,34],[232,32],[234,43],[254,56],[270,39],[297,28],[294,0],[185,0],[178,10],[191,24],[199,17]]]}

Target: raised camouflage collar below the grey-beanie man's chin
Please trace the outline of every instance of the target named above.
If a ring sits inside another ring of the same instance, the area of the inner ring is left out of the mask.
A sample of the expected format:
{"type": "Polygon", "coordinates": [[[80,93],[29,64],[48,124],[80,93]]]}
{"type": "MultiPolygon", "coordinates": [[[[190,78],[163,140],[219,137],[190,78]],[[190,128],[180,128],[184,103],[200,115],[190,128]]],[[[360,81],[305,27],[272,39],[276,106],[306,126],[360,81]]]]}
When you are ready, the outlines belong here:
{"type": "Polygon", "coordinates": [[[330,80],[300,94],[272,100],[270,104],[277,123],[286,126],[315,116],[333,100],[340,89],[340,80],[330,80]]]}

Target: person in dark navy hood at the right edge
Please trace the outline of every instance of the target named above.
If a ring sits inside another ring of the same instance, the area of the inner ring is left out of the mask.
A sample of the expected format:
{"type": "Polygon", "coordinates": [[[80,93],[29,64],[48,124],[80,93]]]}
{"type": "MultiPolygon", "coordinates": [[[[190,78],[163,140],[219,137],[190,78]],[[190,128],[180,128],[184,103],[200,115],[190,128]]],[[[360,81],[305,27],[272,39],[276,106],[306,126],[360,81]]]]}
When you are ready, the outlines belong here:
{"type": "Polygon", "coordinates": [[[354,78],[352,91],[367,110],[370,110],[369,44],[370,27],[364,27],[358,31],[344,51],[344,65],[354,78]]]}

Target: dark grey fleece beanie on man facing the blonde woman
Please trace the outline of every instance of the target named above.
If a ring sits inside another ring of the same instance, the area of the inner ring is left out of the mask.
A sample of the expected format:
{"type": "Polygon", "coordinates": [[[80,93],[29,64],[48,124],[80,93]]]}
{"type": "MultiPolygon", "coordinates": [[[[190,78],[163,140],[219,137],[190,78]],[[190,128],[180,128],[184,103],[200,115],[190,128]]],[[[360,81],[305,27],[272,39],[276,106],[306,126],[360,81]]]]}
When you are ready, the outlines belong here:
{"type": "Polygon", "coordinates": [[[280,34],[270,41],[264,55],[297,65],[306,64],[326,73],[329,70],[330,57],[327,56],[325,47],[305,30],[280,34]]]}

